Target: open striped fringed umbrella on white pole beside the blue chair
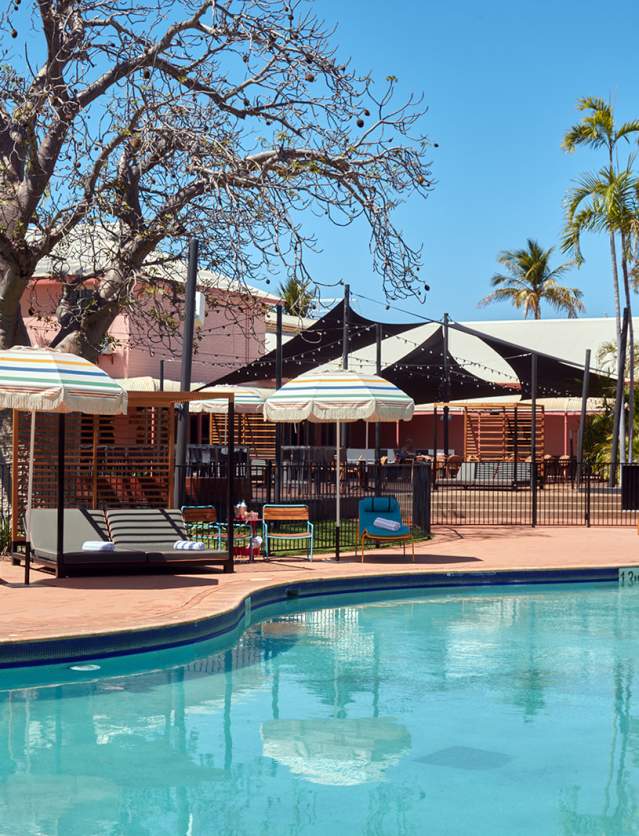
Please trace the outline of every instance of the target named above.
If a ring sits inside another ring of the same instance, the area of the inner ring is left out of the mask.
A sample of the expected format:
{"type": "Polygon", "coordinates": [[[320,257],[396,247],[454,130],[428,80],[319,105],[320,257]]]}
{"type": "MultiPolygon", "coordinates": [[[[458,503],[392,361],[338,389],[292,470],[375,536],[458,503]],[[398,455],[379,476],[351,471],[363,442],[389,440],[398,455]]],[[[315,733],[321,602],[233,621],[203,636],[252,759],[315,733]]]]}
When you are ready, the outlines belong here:
{"type": "Polygon", "coordinates": [[[289,380],[264,403],[264,420],[337,425],[335,460],[335,554],[341,523],[340,426],[354,421],[410,421],[415,402],[375,374],[341,369],[311,371],[289,380]]]}

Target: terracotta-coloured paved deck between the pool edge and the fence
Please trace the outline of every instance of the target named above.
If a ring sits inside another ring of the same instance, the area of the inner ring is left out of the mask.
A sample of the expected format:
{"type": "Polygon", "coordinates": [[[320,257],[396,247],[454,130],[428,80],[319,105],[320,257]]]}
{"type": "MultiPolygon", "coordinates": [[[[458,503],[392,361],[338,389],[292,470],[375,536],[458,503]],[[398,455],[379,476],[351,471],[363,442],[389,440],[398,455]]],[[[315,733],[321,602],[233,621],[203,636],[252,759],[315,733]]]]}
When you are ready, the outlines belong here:
{"type": "Polygon", "coordinates": [[[401,550],[369,552],[362,564],[351,555],[337,563],[282,558],[238,564],[233,575],[127,575],[56,580],[0,563],[0,641],[33,640],[131,630],[190,621],[222,612],[251,591],[304,579],[393,572],[486,572],[639,565],[634,528],[440,528],[416,545],[416,561],[401,550]]]}

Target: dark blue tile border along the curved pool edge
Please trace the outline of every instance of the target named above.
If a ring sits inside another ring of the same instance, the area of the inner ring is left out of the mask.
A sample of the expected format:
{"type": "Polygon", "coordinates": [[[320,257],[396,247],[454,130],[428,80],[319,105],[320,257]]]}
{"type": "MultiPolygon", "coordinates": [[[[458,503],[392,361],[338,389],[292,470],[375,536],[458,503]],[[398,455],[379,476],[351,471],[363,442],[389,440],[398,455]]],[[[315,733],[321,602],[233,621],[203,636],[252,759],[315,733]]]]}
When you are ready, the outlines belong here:
{"type": "Polygon", "coordinates": [[[245,620],[245,601],[251,610],[283,601],[358,592],[392,592],[478,586],[543,583],[594,583],[618,580],[618,567],[591,569],[498,570],[493,572],[402,572],[322,580],[283,582],[248,593],[230,610],[179,624],[145,627],[86,636],[0,643],[0,668],[79,662],[97,657],[147,653],[230,634],[245,620]]]}

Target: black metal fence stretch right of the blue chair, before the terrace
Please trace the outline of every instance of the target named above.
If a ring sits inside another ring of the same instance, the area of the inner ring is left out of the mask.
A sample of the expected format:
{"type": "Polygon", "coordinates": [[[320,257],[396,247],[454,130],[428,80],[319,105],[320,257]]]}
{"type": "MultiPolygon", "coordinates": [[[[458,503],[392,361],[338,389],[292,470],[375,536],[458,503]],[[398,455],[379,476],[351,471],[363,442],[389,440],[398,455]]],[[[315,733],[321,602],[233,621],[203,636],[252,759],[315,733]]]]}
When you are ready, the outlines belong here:
{"type": "Polygon", "coordinates": [[[634,526],[638,508],[636,465],[466,461],[437,467],[430,491],[433,525],[634,526]]]}

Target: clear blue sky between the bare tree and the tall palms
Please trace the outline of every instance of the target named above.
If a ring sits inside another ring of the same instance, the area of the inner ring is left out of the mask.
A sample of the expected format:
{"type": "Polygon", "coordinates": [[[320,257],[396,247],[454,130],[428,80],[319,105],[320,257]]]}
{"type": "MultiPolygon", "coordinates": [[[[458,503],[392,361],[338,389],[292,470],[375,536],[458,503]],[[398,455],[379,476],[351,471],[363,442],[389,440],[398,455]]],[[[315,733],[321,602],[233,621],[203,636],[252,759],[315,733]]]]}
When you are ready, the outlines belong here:
{"type": "MultiPolygon", "coordinates": [[[[356,67],[380,79],[398,76],[404,93],[424,92],[424,128],[440,145],[432,153],[436,187],[399,215],[409,240],[424,247],[422,275],[431,293],[420,312],[517,318],[508,305],[479,309],[477,301],[489,291],[500,250],[528,237],[557,244],[566,189],[599,166],[595,153],[569,156],[560,148],[578,118],[577,99],[610,97],[619,121],[639,118],[639,4],[318,0],[316,8],[338,24],[335,42],[356,67]]],[[[318,278],[343,278],[354,292],[382,298],[364,227],[323,227],[321,243],[312,262],[318,278]]],[[[584,291],[586,315],[612,316],[606,240],[586,239],[584,254],[585,265],[566,283],[584,291]]]]}

